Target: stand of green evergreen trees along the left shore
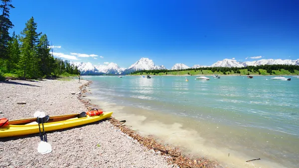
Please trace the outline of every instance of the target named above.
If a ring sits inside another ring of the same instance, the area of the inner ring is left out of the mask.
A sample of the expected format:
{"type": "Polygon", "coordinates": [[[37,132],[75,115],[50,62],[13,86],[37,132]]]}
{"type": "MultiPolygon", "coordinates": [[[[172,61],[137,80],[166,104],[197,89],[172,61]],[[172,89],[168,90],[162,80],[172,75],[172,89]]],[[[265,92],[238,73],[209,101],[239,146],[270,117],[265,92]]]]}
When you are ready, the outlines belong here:
{"type": "Polygon", "coordinates": [[[5,76],[39,79],[80,74],[69,61],[51,55],[47,35],[37,32],[33,17],[20,34],[10,36],[8,30],[14,26],[9,20],[11,8],[11,0],[0,0],[0,80],[5,76]]]}

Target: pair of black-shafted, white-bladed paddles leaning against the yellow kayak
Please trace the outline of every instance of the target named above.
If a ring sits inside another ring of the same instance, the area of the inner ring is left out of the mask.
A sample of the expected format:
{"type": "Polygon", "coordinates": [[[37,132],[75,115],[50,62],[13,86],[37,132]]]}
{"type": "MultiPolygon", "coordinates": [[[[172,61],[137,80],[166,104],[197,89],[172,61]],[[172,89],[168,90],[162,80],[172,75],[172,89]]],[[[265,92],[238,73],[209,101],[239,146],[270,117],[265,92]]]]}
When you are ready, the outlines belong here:
{"type": "Polygon", "coordinates": [[[35,112],[33,116],[37,117],[39,136],[40,136],[40,143],[38,144],[37,152],[40,154],[48,154],[48,153],[52,152],[52,147],[49,143],[47,143],[47,136],[45,135],[43,123],[47,122],[50,117],[45,116],[45,113],[39,112],[39,111],[35,112]],[[40,125],[39,125],[40,122],[42,124],[43,135],[41,135],[40,125]]]}

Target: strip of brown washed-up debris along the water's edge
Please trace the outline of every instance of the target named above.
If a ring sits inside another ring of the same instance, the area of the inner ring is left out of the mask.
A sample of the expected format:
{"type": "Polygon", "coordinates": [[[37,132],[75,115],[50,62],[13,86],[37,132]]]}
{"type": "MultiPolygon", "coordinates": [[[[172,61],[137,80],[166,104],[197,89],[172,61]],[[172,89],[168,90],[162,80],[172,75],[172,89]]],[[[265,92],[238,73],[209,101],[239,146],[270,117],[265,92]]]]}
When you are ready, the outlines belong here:
{"type": "MultiPolygon", "coordinates": [[[[88,87],[92,83],[92,81],[87,81],[88,83],[80,86],[80,89],[83,90],[84,93],[87,93],[86,87],[88,87]]],[[[82,95],[80,95],[78,99],[84,103],[86,108],[96,107],[98,109],[101,109],[99,105],[91,104],[90,99],[82,99],[81,96],[82,95]]],[[[137,131],[130,129],[126,125],[122,125],[122,123],[119,120],[115,119],[113,116],[111,118],[112,119],[110,119],[109,122],[113,124],[115,128],[120,129],[126,135],[137,140],[141,145],[145,146],[149,150],[153,150],[155,154],[167,156],[168,164],[175,164],[180,168],[223,168],[217,161],[211,161],[204,157],[197,159],[189,158],[185,156],[178,147],[158,143],[153,137],[141,136],[137,131]]]]}

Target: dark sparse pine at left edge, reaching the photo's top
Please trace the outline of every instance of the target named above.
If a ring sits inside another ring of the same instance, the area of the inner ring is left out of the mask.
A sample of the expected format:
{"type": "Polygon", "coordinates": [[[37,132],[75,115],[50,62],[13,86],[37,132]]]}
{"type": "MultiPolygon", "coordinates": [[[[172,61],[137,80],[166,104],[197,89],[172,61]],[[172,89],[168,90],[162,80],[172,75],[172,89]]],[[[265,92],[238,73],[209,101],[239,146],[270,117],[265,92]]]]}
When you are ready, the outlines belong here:
{"type": "Polygon", "coordinates": [[[1,0],[0,8],[2,13],[0,15],[0,58],[7,57],[7,43],[10,40],[8,29],[13,27],[9,20],[9,9],[14,8],[9,4],[11,0],[1,0]]]}

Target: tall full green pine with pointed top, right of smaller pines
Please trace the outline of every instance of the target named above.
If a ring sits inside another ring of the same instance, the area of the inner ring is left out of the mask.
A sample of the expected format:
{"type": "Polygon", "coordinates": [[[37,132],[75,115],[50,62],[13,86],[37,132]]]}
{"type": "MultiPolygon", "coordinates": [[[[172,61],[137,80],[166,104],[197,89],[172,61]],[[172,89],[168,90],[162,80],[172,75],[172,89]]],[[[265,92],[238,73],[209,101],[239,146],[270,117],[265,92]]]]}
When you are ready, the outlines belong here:
{"type": "Polygon", "coordinates": [[[36,32],[37,23],[31,17],[25,24],[25,28],[21,32],[23,37],[20,38],[21,44],[21,57],[19,61],[20,72],[23,78],[38,78],[41,76],[40,71],[40,58],[37,55],[36,44],[38,36],[41,33],[36,32]]]}

